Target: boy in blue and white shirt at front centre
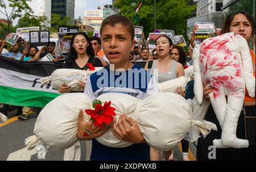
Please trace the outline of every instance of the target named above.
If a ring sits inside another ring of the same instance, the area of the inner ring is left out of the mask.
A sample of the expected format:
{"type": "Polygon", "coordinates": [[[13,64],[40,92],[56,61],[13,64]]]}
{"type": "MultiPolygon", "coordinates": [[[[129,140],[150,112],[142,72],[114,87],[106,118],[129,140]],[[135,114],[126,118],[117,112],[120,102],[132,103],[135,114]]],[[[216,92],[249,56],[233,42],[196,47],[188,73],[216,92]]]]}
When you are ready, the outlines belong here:
{"type": "MultiPolygon", "coordinates": [[[[143,68],[129,62],[129,53],[134,49],[134,26],[122,15],[112,15],[101,24],[101,40],[104,53],[110,65],[90,75],[85,85],[85,93],[95,100],[104,93],[125,93],[144,99],[158,92],[156,80],[143,68]]],[[[77,136],[82,140],[92,140],[90,160],[150,160],[150,146],[146,143],[138,124],[122,115],[113,122],[111,130],[120,140],[134,143],[125,148],[110,148],[98,143],[94,137],[103,135],[110,129],[100,129],[93,122],[82,121],[82,110],[78,119],[77,136]],[[84,130],[89,131],[84,135],[84,130]]]]}

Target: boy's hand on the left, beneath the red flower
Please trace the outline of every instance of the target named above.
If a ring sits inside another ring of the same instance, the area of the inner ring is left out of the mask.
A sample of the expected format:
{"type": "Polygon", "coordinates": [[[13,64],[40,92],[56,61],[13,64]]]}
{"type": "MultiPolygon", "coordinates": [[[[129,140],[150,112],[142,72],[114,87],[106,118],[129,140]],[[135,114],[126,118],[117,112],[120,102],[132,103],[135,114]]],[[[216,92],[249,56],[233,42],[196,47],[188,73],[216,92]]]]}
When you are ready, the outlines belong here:
{"type": "Polygon", "coordinates": [[[82,114],[82,109],[80,109],[79,117],[77,118],[77,137],[79,137],[79,139],[92,140],[94,137],[98,137],[105,134],[105,132],[107,132],[110,129],[109,126],[101,130],[100,127],[93,125],[93,121],[83,121],[82,114]],[[89,131],[90,135],[84,136],[84,130],[89,131]]]}

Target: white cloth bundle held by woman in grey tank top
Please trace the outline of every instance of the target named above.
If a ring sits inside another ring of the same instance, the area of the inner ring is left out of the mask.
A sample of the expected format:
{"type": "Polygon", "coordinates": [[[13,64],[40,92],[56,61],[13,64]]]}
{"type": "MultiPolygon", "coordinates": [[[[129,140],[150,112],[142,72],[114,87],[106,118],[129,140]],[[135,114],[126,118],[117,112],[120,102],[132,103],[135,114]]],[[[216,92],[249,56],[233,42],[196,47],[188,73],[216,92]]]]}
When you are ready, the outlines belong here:
{"type": "Polygon", "coordinates": [[[164,81],[162,83],[158,83],[159,92],[172,92],[175,93],[178,87],[182,87],[185,89],[188,83],[188,78],[185,76],[181,76],[179,78],[171,79],[164,81]]]}

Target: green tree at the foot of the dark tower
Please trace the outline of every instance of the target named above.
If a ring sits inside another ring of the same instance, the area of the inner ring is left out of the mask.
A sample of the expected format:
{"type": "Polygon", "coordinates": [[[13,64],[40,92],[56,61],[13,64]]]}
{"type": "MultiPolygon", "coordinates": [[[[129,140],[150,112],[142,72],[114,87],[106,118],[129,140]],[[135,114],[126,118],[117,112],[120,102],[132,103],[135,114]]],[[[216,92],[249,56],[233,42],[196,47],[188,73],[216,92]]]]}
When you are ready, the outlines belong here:
{"type": "Polygon", "coordinates": [[[69,16],[61,17],[59,14],[52,14],[52,20],[51,20],[51,28],[49,30],[51,32],[59,32],[59,25],[76,25],[75,23],[72,23],[72,20],[69,18],[69,16]]]}

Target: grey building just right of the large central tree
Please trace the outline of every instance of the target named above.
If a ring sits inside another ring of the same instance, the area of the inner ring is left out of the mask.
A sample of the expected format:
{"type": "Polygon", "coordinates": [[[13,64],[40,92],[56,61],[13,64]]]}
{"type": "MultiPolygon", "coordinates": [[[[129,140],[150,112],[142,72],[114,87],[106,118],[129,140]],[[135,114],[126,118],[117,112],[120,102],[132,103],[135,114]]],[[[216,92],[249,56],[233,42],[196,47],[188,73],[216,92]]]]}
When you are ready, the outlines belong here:
{"type": "Polygon", "coordinates": [[[188,38],[191,37],[196,22],[213,22],[217,28],[222,28],[223,14],[221,7],[222,0],[198,0],[196,17],[187,20],[188,38]]]}

